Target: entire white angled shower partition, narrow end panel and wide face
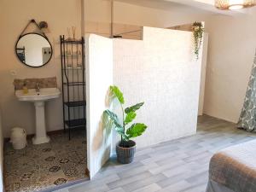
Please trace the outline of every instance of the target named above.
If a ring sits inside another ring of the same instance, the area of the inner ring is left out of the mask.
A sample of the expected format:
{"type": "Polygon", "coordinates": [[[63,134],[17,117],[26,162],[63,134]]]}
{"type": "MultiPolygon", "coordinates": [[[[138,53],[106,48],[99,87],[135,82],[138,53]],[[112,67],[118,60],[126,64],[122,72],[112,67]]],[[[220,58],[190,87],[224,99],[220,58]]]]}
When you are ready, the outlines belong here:
{"type": "Polygon", "coordinates": [[[123,90],[125,105],[145,102],[137,122],[145,123],[148,129],[135,139],[137,148],[195,134],[202,60],[201,53],[196,60],[192,32],[143,27],[143,40],[97,35],[86,39],[90,177],[114,153],[119,140],[115,133],[107,134],[102,125],[110,84],[123,90]]]}

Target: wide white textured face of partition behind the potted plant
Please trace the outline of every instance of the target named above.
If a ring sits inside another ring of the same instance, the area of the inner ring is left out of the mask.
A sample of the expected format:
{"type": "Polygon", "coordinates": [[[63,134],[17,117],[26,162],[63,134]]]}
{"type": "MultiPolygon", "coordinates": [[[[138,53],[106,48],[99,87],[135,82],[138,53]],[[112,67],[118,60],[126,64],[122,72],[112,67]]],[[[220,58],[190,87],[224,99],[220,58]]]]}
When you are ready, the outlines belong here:
{"type": "Polygon", "coordinates": [[[191,32],[144,27],[143,41],[113,40],[113,83],[126,106],[145,102],[137,122],[148,130],[135,139],[139,148],[195,134],[201,57],[195,60],[192,38],[191,32]]]}

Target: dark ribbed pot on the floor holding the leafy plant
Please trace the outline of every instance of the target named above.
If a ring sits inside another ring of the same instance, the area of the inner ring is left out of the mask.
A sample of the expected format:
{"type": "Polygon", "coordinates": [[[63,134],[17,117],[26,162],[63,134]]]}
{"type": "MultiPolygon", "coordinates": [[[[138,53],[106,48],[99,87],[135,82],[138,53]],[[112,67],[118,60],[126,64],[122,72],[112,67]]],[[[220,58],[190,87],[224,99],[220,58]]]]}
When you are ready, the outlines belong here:
{"type": "Polygon", "coordinates": [[[117,160],[121,164],[131,163],[134,159],[136,143],[134,141],[119,142],[116,145],[117,160]]]}

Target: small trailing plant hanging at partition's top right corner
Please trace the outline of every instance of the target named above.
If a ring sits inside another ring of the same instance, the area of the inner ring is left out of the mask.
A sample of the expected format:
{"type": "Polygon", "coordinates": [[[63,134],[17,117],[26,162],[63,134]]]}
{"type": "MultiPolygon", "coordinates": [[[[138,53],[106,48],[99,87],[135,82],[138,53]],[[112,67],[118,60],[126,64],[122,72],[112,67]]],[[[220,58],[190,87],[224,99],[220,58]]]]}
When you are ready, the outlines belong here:
{"type": "Polygon", "coordinates": [[[196,59],[199,57],[199,50],[201,48],[202,44],[202,38],[204,34],[204,26],[202,25],[201,22],[194,22],[192,25],[192,31],[193,31],[193,36],[194,36],[194,52],[196,55],[196,59]]]}

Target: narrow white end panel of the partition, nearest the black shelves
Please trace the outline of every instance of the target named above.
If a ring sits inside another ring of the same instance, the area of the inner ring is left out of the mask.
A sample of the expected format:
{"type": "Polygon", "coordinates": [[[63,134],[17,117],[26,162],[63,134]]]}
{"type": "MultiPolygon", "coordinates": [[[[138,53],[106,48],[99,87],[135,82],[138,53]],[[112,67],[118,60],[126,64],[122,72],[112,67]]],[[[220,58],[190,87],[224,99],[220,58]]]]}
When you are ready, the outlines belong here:
{"type": "Polygon", "coordinates": [[[109,108],[108,88],[113,84],[113,42],[90,35],[85,45],[87,166],[94,177],[111,153],[112,134],[102,124],[102,113],[109,108]]]}

